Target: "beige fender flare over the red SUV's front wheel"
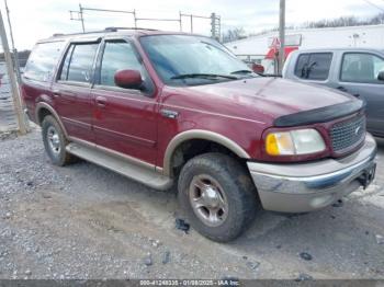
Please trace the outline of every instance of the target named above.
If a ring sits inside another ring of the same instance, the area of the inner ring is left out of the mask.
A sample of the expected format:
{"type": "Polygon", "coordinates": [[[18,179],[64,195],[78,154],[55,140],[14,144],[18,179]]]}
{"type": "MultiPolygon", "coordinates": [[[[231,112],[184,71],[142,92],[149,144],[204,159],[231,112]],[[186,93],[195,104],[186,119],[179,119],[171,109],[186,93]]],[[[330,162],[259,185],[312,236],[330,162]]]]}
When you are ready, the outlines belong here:
{"type": "Polygon", "coordinates": [[[203,129],[191,129],[187,131],[182,131],[178,134],[176,137],[171,139],[169,142],[165,159],[163,159],[163,175],[170,176],[171,175],[171,160],[173,152],[184,141],[191,140],[191,139],[205,139],[205,140],[211,140],[216,144],[219,144],[234,153],[236,153],[238,157],[244,158],[244,159],[249,159],[250,156],[248,154],[247,151],[245,151],[239,145],[237,145],[235,141],[231,139],[224,137],[219,134],[208,131],[208,130],[203,130],[203,129]]]}

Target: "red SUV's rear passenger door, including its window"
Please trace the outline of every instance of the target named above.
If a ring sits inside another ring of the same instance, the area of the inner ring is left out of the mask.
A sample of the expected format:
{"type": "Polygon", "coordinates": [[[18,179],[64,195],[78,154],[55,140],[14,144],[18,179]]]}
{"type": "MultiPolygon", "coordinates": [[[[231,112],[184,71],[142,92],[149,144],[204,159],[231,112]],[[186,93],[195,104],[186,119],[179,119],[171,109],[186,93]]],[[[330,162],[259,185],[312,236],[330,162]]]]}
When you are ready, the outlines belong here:
{"type": "Polygon", "coordinates": [[[70,137],[94,141],[91,83],[100,42],[71,43],[53,84],[55,108],[70,137]]]}

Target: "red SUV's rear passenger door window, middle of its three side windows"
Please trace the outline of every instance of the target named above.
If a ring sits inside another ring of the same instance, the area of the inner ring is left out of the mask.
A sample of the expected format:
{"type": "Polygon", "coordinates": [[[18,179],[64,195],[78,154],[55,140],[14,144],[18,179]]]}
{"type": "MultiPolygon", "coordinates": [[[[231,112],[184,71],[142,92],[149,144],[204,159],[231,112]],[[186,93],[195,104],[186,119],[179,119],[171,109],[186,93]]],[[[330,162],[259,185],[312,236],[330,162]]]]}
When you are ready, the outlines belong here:
{"type": "Polygon", "coordinates": [[[98,47],[98,43],[72,44],[63,62],[59,79],[63,81],[90,82],[98,47]]]}

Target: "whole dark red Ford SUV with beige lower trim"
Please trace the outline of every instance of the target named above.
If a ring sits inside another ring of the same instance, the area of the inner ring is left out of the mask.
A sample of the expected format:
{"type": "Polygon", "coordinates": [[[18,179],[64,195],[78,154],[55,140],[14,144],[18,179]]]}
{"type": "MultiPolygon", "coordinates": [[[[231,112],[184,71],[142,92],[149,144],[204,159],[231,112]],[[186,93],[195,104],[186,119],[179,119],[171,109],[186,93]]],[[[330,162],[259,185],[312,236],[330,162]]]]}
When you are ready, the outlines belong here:
{"type": "Polygon", "coordinates": [[[39,41],[23,74],[52,162],[74,156],[158,190],[191,225],[238,237],[258,203],[323,208],[366,187],[376,145],[363,102],[253,73],[208,37],[114,28],[39,41]]]}

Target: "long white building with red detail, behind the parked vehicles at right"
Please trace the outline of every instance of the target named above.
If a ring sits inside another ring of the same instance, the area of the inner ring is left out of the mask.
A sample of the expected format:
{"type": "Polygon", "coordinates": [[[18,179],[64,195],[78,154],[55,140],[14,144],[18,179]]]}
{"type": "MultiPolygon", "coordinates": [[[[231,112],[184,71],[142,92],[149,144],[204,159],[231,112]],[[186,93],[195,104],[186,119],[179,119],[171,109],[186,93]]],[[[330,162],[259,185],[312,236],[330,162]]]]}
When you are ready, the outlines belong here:
{"type": "MultiPolygon", "coordinates": [[[[225,45],[239,58],[264,66],[273,73],[279,31],[229,42],[225,45]]],[[[286,30],[285,55],[294,49],[369,47],[384,49],[384,24],[286,30]]]]}

